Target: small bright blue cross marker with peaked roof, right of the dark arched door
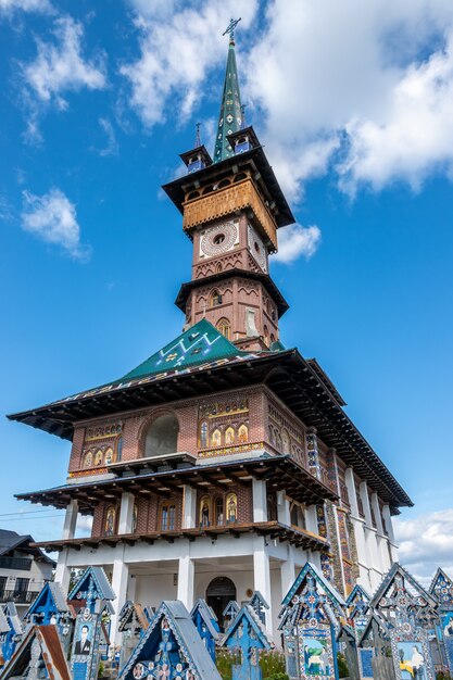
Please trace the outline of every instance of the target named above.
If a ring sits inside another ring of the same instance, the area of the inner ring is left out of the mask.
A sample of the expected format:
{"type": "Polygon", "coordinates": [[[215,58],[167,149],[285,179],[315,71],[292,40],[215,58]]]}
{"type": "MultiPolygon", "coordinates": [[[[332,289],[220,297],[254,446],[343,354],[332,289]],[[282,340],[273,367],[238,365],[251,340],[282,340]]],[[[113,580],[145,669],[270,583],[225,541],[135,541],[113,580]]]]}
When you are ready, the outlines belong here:
{"type": "Polygon", "coordinates": [[[262,680],[260,652],[269,650],[266,630],[249,604],[244,604],[229,625],[222,646],[236,655],[231,680],[262,680]]]}

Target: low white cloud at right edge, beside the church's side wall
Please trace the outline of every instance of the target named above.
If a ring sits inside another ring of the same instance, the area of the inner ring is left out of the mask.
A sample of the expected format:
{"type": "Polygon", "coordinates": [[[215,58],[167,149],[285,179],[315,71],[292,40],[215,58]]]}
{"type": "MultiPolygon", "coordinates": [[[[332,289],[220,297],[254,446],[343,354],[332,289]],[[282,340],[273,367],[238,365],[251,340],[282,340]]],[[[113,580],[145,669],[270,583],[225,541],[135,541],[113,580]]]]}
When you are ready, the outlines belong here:
{"type": "Polygon", "coordinates": [[[400,563],[425,585],[438,567],[453,577],[453,508],[393,519],[400,563]]]}

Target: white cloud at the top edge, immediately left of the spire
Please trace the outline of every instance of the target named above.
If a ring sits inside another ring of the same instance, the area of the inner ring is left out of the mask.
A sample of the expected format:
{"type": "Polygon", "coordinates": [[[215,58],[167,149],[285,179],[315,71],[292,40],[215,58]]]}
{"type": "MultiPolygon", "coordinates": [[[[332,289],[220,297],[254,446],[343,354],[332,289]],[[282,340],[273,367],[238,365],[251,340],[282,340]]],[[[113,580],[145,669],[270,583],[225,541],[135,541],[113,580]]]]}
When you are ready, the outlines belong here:
{"type": "Polygon", "coordinates": [[[130,105],[147,128],[163,123],[166,112],[185,123],[205,93],[206,73],[225,60],[226,40],[218,38],[219,33],[238,12],[241,27],[249,27],[257,1],[197,0],[191,7],[179,1],[168,3],[172,13],[161,1],[152,5],[152,13],[143,0],[133,4],[139,13],[135,24],[141,54],[121,67],[131,89],[130,105]]]}

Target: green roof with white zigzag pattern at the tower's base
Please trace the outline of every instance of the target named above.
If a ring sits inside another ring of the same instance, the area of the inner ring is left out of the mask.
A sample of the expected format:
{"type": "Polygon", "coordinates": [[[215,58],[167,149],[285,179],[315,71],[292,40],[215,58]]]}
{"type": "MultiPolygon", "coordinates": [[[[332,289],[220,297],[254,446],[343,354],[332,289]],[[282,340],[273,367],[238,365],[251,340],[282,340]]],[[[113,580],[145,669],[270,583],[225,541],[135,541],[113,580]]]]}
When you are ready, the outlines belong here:
{"type": "Polygon", "coordinates": [[[215,362],[219,358],[243,356],[249,352],[238,350],[210,322],[201,319],[184,333],[172,340],[162,350],[152,354],[134,368],[123,380],[134,380],[167,370],[184,370],[198,364],[215,362]]]}

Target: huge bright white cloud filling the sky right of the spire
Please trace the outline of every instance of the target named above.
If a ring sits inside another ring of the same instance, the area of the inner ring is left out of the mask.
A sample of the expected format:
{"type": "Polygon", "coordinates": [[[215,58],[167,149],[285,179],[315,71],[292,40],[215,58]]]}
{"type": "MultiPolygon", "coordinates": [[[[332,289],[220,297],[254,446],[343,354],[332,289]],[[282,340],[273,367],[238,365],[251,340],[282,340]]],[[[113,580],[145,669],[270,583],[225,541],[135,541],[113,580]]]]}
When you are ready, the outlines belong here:
{"type": "Polygon", "coordinates": [[[292,200],[332,167],[348,192],[452,175],[450,0],[275,0],[266,16],[247,86],[292,200]]]}

